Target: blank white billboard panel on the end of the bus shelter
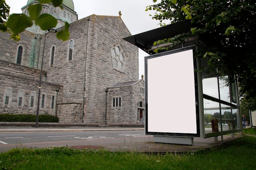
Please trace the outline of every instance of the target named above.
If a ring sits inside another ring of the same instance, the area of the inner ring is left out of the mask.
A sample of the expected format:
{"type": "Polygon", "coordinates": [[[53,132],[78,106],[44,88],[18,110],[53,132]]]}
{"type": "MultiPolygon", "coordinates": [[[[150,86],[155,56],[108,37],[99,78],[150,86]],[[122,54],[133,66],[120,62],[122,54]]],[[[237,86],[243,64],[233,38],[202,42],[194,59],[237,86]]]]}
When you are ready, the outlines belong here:
{"type": "Polygon", "coordinates": [[[193,49],[145,57],[146,134],[198,136],[193,49]]]}

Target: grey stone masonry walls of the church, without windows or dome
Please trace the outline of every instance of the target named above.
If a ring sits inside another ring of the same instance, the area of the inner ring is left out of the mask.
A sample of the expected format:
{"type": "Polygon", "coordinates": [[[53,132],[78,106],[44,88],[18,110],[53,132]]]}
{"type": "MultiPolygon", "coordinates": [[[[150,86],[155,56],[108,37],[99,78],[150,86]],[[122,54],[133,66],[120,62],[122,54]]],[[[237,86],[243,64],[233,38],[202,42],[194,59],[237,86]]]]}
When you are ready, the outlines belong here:
{"type": "MultiPolygon", "coordinates": [[[[63,27],[57,29],[61,31],[63,27]]],[[[13,113],[35,114],[38,94],[38,76],[43,61],[43,82],[41,94],[45,95],[45,107],[40,113],[57,115],[63,123],[104,124],[106,117],[106,88],[121,82],[136,81],[139,72],[138,48],[122,38],[130,36],[126,25],[118,16],[90,15],[70,24],[70,39],[58,40],[56,34],[47,33],[41,36],[29,31],[22,32],[21,40],[9,40],[7,33],[1,33],[0,50],[2,64],[0,77],[0,111],[13,113]],[[74,43],[72,60],[69,60],[70,43],[74,43]],[[45,48],[43,49],[43,43],[45,48]],[[16,64],[18,46],[22,45],[22,62],[16,64]],[[54,63],[51,64],[54,47],[54,63]],[[115,56],[114,52],[117,54],[115,56]],[[122,54],[122,56],[120,55],[122,54]],[[121,65],[114,62],[120,60],[121,65]],[[11,63],[11,64],[8,64],[11,63]],[[115,65],[116,64],[116,65],[115,65]],[[27,66],[27,67],[26,67],[27,66]],[[120,68],[121,67],[121,68],[120,68]],[[36,69],[34,69],[36,68],[36,69]],[[14,76],[21,74],[22,76],[14,76]],[[11,104],[5,106],[6,89],[11,88],[11,104]],[[56,89],[59,89],[58,97],[56,89]],[[24,92],[24,103],[18,107],[20,91],[24,92]],[[31,94],[34,93],[34,106],[29,107],[31,94]],[[58,98],[58,108],[51,108],[52,96],[58,98]]],[[[124,90],[124,98],[128,99],[117,112],[125,118],[115,115],[112,123],[135,123],[137,114],[137,92],[133,89],[124,90]],[[129,94],[132,93],[132,94],[129,94]],[[127,106],[127,107],[126,107],[127,106]],[[131,119],[130,119],[131,118],[131,119]]]]}

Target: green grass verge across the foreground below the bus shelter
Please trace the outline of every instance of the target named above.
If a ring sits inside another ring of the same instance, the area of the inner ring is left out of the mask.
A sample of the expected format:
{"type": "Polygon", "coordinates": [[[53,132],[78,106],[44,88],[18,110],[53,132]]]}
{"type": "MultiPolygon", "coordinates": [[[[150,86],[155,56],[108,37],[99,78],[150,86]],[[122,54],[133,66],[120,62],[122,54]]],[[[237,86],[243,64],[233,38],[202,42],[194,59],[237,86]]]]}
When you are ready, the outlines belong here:
{"type": "Polygon", "coordinates": [[[0,153],[2,170],[255,170],[256,137],[243,136],[225,145],[187,153],[16,148],[0,153]]]}

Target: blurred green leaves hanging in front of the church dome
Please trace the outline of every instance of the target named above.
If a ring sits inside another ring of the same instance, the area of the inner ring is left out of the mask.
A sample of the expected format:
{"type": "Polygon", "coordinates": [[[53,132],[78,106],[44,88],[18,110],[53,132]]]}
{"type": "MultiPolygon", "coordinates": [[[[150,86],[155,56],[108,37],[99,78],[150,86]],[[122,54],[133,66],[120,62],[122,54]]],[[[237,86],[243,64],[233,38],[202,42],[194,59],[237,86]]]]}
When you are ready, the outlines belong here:
{"type": "MultiPolygon", "coordinates": [[[[27,16],[23,13],[14,13],[9,15],[10,7],[6,4],[5,0],[1,0],[0,30],[11,33],[11,39],[18,41],[20,40],[20,36],[18,34],[24,31],[27,27],[33,26],[33,22],[40,26],[42,30],[48,30],[56,27],[56,18],[47,13],[40,13],[42,11],[43,4],[48,3],[52,3],[54,7],[60,7],[63,9],[61,6],[62,0],[38,0],[38,2],[39,3],[29,7],[29,16],[27,16]],[[7,19],[8,16],[9,18],[7,19]]],[[[57,32],[56,37],[63,41],[68,40],[70,36],[70,32],[68,31],[69,26],[70,24],[65,22],[65,28],[62,31],[57,32]]]]}

